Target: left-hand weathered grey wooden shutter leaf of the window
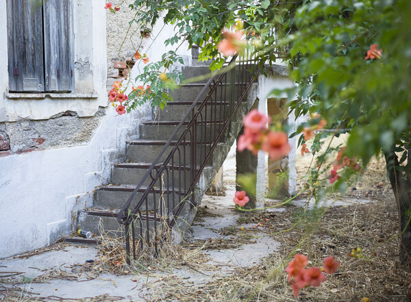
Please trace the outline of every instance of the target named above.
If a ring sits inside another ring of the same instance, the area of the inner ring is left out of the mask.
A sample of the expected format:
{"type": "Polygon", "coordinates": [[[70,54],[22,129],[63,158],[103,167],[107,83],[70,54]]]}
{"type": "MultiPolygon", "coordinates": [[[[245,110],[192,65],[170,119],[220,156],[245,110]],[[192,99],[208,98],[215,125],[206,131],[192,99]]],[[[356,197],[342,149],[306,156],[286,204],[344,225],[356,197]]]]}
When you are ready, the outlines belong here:
{"type": "Polygon", "coordinates": [[[12,92],[44,91],[42,6],[8,0],[8,73],[12,92]]]}

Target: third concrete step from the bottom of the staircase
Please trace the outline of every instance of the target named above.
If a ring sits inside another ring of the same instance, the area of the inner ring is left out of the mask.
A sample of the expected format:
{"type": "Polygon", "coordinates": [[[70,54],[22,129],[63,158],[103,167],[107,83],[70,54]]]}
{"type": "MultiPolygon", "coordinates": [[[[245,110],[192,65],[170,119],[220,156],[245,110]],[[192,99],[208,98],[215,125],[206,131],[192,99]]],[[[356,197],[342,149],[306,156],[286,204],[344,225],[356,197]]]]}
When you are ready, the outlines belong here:
{"type": "MultiPolygon", "coordinates": [[[[114,166],[114,173],[112,182],[114,184],[135,184],[137,185],[142,177],[144,177],[150,164],[141,162],[128,162],[123,164],[116,164],[114,166]]],[[[159,166],[160,167],[160,166],[159,166]]],[[[153,171],[153,177],[155,177],[155,171],[153,171]]],[[[168,186],[168,183],[174,181],[174,186],[179,188],[188,188],[188,185],[192,179],[192,171],[190,168],[179,168],[179,166],[171,166],[163,173],[164,186],[168,186]]],[[[160,180],[158,184],[155,184],[157,188],[160,188],[160,180]]],[[[144,181],[144,185],[148,186],[151,183],[151,177],[147,177],[144,181]]]]}

